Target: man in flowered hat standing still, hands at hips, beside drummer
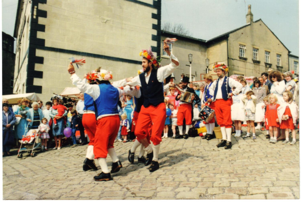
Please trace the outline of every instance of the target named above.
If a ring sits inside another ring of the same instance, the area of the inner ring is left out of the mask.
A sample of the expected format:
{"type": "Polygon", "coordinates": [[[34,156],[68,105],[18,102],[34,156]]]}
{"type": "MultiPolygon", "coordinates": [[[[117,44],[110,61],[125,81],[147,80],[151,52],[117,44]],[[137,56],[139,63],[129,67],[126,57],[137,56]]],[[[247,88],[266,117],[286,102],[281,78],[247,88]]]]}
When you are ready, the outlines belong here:
{"type": "Polygon", "coordinates": [[[231,96],[233,94],[238,94],[241,91],[242,85],[238,81],[225,76],[229,70],[225,64],[215,63],[213,69],[216,72],[218,79],[213,82],[209,91],[210,94],[213,95],[216,119],[217,123],[221,126],[221,132],[223,135],[223,140],[216,146],[224,146],[225,149],[230,149],[232,147],[231,96]],[[232,93],[230,93],[231,88],[233,87],[236,88],[232,93]]]}

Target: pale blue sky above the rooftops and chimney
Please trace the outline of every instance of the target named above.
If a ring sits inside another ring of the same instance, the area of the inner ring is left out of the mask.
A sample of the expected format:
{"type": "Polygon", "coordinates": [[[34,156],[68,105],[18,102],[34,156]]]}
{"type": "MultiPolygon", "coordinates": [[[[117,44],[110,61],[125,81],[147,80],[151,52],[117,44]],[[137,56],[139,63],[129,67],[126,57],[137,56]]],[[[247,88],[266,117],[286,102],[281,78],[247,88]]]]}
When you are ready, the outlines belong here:
{"type": "MultiPolygon", "coordinates": [[[[101,1],[101,0],[99,0],[101,1]]],[[[162,24],[183,24],[192,37],[209,40],[244,26],[248,5],[291,51],[299,54],[298,0],[162,0],[162,24]]],[[[2,31],[14,35],[18,0],[2,0],[2,31]]]]}

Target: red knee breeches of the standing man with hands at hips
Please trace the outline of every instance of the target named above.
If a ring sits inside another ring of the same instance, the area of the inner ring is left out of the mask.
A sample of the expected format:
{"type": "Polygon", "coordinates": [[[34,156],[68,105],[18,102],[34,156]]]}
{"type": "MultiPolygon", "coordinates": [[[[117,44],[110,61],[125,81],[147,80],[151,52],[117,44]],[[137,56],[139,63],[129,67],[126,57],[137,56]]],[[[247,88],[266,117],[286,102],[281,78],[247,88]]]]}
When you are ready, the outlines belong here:
{"type": "Polygon", "coordinates": [[[231,128],[231,99],[218,99],[215,101],[214,105],[217,124],[221,127],[231,128]]]}

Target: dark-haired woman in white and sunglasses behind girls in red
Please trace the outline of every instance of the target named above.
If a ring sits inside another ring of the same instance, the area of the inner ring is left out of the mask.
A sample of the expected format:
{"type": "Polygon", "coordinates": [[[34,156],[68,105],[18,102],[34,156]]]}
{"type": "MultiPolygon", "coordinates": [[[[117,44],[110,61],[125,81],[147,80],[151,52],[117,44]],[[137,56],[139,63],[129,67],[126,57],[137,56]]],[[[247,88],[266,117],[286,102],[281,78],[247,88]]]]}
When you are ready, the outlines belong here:
{"type": "Polygon", "coordinates": [[[272,71],[269,74],[269,80],[272,83],[270,93],[275,94],[278,99],[278,104],[284,104],[282,93],[285,91],[285,82],[279,71],[272,71]]]}

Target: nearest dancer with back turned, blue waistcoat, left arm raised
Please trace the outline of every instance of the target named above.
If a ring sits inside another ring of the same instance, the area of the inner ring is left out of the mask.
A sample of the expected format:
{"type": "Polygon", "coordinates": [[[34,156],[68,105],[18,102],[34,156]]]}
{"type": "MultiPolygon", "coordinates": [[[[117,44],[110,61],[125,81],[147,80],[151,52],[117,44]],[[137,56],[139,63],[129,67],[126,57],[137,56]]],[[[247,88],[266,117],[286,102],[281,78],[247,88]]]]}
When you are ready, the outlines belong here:
{"type": "Polygon", "coordinates": [[[114,88],[109,82],[112,79],[112,73],[106,70],[100,70],[97,74],[94,73],[93,79],[97,85],[89,85],[83,82],[75,74],[73,65],[69,65],[68,72],[71,74],[70,78],[73,85],[78,87],[81,92],[90,95],[97,108],[97,125],[93,153],[95,155],[94,158],[98,160],[102,172],[94,176],[94,180],[112,180],[113,178],[110,173],[118,172],[122,167],[113,146],[120,125],[117,102],[119,96],[131,93],[131,91],[114,88]],[[106,163],[107,154],[110,155],[113,162],[110,172],[106,163]]]}

